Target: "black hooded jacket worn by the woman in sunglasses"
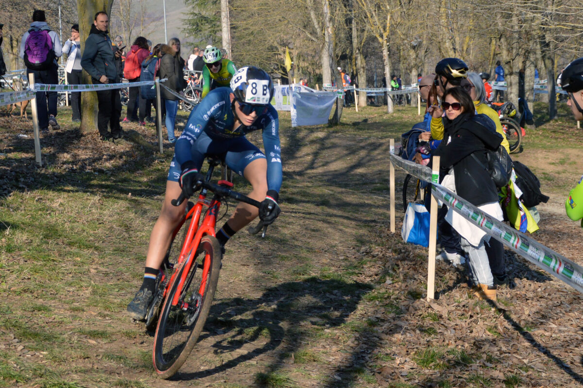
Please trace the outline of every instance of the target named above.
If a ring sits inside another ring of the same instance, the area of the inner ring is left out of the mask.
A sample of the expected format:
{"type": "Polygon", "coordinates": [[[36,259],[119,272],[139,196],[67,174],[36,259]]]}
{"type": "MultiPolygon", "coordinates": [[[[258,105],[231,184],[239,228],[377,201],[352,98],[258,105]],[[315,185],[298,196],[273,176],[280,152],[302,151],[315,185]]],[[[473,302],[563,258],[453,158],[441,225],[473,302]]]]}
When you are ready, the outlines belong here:
{"type": "Polygon", "coordinates": [[[454,120],[443,119],[445,133],[431,155],[440,156],[440,181],[453,167],[456,193],[479,206],[498,201],[498,189],[485,169],[486,149],[502,143],[496,124],[486,115],[462,113],[454,120]],[[476,155],[477,162],[471,155],[476,155]]]}

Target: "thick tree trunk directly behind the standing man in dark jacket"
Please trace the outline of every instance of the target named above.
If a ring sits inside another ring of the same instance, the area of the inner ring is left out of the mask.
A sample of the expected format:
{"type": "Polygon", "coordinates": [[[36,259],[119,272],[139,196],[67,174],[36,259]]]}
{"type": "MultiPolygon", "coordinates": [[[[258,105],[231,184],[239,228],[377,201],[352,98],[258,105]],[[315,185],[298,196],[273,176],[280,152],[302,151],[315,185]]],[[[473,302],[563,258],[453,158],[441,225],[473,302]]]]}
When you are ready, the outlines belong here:
{"type": "MultiPolygon", "coordinates": [[[[93,25],[93,18],[99,11],[107,12],[111,15],[111,5],[113,0],[77,0],[79,13],[79,39],[81,52],[85,49],[85,41],[89,37],[89,31],[93,25]]],[[[82,84],[89,84],[90,77],[85,71],[82,72],[82,84]]],[[[94,91],[81,93],[81,111],[83,116],[79,130],[82,133],[93,132],[97,129],[97,94],[94,91]]]]}

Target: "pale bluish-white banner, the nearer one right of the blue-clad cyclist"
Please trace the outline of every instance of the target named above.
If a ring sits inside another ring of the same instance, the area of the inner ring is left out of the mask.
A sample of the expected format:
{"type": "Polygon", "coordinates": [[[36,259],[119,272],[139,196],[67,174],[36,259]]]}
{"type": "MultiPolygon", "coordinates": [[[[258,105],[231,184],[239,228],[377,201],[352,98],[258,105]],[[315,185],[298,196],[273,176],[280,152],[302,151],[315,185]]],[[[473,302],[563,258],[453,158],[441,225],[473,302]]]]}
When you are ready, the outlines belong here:
{"type": "Polygon", "coordinates": [[[293,92],[291,126],[327,124],[336,92],[293,92]]]}

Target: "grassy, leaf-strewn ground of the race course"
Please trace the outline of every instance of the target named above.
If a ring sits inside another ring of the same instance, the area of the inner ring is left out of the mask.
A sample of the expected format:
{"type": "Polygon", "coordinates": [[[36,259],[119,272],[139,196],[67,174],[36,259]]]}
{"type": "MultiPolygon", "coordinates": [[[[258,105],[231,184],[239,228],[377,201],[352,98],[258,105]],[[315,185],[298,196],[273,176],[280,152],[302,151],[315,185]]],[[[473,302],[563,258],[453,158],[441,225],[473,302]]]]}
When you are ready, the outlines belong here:
{"type": "MultiPolygon", "coordinates": [[[[170,381],[154,376],[152,333],[125,307],[173,149],[157,154],[153,127],[133,124],[127,141],[102,143],[64,109],[36,168],[31,123],[0,118],[0,387],[580,385],[580,294],[510,251],[514,288],[497,306],[441,262],[437,299],[425,300],[427,250],[387,233],[388,139],[420,118],[359,110],[336,127],[280,115],[282,215],[264,240],[241,232],[227,245],[208,324],[170,381]]],[[[512,156],[551,196],[534,237],[581,263],[581,229],[561,213],[583,172],[569,114],[536,115],[512,156]]]]}

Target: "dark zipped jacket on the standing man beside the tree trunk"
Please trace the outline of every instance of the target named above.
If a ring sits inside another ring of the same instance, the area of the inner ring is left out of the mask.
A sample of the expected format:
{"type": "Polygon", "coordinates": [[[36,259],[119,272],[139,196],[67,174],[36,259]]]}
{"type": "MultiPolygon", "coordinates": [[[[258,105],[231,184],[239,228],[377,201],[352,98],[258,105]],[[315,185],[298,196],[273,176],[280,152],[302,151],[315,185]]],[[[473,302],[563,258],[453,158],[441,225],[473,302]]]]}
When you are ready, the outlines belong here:
{"type": "Polygon", "coordinates": [[[99,81],[103,75],[107,77],[110,83],[120,81],[117,67],[115,66],[115,55],[111,47],[111,39],[107,32],[97,30],[95,24],[92,24],[89,37],[85,41],[85,51],[83,51],[83,57],[81,58],[81,66],[89,73],[93,83],[99,81]]]}

